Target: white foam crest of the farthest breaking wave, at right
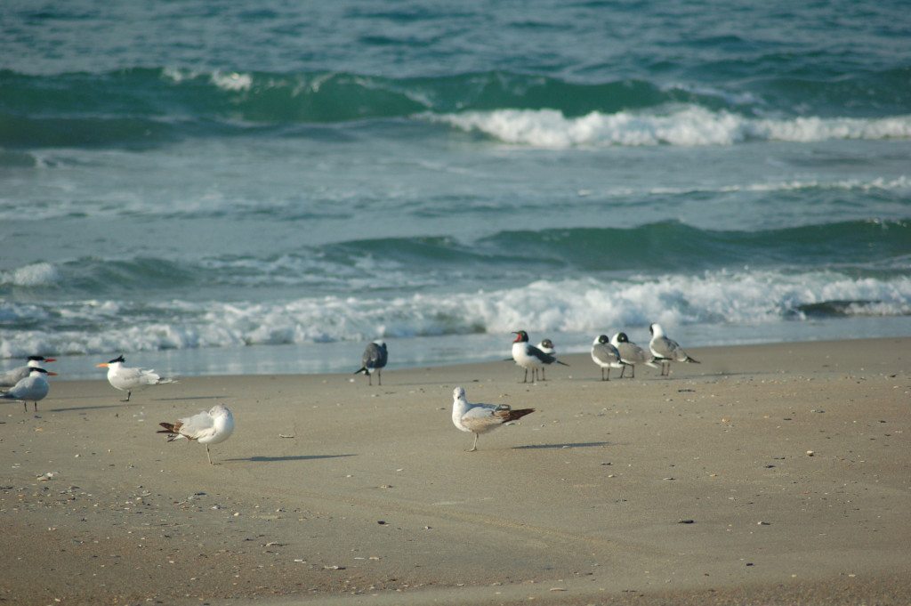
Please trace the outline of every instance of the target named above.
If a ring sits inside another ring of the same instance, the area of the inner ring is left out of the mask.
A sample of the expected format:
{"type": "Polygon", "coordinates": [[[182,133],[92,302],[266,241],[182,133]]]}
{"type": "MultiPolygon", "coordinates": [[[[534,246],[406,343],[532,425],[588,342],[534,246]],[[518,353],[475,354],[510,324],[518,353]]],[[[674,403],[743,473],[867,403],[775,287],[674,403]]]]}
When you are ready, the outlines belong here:
{"type": "Polygon", "coordinates": [[[746,118],[697,106],[659,113],[591,112],[567,118],[554,109],[498,109],[435,116],[466,131],[478,131],[505,143],[543,149],[607,146],[732,145],[749,140],[809,143],[829,139],[908,139],[911,116],[891,118],[746,118]]]}

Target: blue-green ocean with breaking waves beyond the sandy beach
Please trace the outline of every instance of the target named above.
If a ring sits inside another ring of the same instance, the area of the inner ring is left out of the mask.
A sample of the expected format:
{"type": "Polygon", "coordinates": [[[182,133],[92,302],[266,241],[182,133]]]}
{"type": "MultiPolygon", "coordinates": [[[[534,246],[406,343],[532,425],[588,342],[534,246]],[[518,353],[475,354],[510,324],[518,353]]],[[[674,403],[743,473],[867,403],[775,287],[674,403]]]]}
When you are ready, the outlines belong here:
{"type": "Polygon", "coordinates": [[[5,2],[0,362],[909,335],[906,25],[889,1],[5,2]]]}

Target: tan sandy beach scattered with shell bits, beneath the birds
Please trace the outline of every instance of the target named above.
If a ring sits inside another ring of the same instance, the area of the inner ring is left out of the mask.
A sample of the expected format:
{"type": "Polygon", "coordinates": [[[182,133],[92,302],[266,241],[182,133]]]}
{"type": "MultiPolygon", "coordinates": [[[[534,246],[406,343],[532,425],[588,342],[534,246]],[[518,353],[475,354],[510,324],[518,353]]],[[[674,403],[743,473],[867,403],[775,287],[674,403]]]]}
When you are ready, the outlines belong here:
{"type": "Polygon", "coordinates": [[[911,603],[911,339],[691,354],[56,381],[0,416],[0,601],[911,603]],[[537,412],[466,453],[455,385],[537,412]],[[155,433],[218,402],[215,466],[155,433]]]}

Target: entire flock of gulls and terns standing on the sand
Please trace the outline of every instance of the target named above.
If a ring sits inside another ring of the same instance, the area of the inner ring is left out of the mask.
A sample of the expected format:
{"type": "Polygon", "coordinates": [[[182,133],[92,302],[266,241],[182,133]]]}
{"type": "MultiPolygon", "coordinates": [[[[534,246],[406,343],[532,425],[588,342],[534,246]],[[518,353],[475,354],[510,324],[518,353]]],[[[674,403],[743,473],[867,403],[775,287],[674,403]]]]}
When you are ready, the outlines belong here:
{"type": "MultiPolygon", "coordinates": [[[[620,370],[622,378],[627,368],[630,369],[630,378],[636,375],[636,365],[648,365],[653,368],[661,366],[661,375],[670,375],[670,364],[674,362],[695,363],[699,362],[687,354],[680,344],[669,339],[659,324],[650,326],[651,341],[649,350],[646,351],[639,345],[630,341],[625,333],[617,333],[612,337],[599,334],[591,344],[591,359],[601,369],[601,380],[610,380],[610,369],[620,370]],[[605,374],[605,371],[607,373],[605,374]]],[[[532,371],[532,381],[537,381],[540,372],[541,380],[544,370],[548,365],[567,365],[557,359],[556,348],[549,339],[542,340],[539,344],[532,345],[528,341],[525,331],[513,333],[516,339],[512,344],[512,360],[525,369],[523,383],[528,381],[528,371],[532,371]]],[[[382,372],[389,360],[389,352],[383,341],[368,344],[363,352],[361,368],[354,372],[355,375],[367,375],[369,385],[373,385],[373,375],[376,374],[379,385],[383,385],[382,372]]],[[[54,358],[42,355],[31,355],[25,366],[19,366],[0,375],[0,387],[9,387],[0,398],[17,400],[23,403],[28,411],[28,402],[32,402],[37,411],[38,402],[43,400],[50,391],[47,375],[56,375],[46,370],[43,365],[55,362],[54,358]]],[[[108,362],[97,365],[107,368],[107,382],[119,391],[127,392],[128,402],[133,391],[150,385],[176,383],[176,379],[162,377],[154,370],[131,368],[125,365],[123,355],[108,362]]],[[[505,404],[471,404],[466,398],[463,387],[453,390],[453,424],[460,430],[475,435],[475,442],[468,452],[477,450],[477,438],[498,426],[515,421],[523,416],[535,412],[534,408],[521,408],[514,410],[505,404]]],[[[167,434],[168,441],[179,438],[195,440],[206,447],[206,457],[211,464],[210,445],[219,444],[227,440],[234,431],[234,416],[230,409],[222,404],[213,406],[208,411],[197,415],[180,418],[173,423],[159,423],[163,427],[159,434],[167,434]]]]}

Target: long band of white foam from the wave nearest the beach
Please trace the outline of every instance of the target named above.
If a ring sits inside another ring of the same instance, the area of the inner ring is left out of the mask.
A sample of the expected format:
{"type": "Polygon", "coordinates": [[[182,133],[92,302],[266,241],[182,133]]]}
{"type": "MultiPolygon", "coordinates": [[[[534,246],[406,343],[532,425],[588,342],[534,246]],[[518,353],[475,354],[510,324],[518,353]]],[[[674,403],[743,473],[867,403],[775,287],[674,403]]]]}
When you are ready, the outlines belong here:
{"type": "Polygon", "coordinates": [[[538,281],[476,293],[312,297],[276,303],[86,301],[0,303],[0,356],[35,351],[110,354],[244,344],[363,342],[377,335],[596,333],[651,322],[768,324],[804,319],[806,305],[855,302],[848,315],[911,315],[911,277],[857,279],[837,272],[708,272],[623,282],[538,281]],[[61,311],[62,310],[62,311],[61,311]],[[141,313],[138,313],[141,311],[141,313]],[[61,324],[57,314],[63,317],[61,324]],[[145,318],[143,320],[142,318],[145,318]],[[17,330],[16,324],[41,324],[17,330]],[[79,326],[78,329],[72,326],[79,326]]]}

